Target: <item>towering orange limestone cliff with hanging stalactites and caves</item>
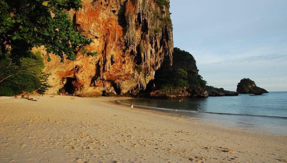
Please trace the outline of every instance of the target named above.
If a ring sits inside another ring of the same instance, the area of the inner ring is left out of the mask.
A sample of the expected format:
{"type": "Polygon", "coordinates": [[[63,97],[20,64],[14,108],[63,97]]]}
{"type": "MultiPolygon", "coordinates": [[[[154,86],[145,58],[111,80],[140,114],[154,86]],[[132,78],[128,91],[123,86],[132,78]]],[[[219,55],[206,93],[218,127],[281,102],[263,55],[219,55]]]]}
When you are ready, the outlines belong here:
{"type": "Polygon", "coordinates": [[[82,5],[69,14],[78,30],[94,40],[85,48],[99,55],[78,53],[76,61],[64,63],[50,55],[44,71],[51,74],[53,87],[46,93],[136,95],[145,89],[164,56],[172,57],[169,6],[155,0],[82,0],[82,5]]]}

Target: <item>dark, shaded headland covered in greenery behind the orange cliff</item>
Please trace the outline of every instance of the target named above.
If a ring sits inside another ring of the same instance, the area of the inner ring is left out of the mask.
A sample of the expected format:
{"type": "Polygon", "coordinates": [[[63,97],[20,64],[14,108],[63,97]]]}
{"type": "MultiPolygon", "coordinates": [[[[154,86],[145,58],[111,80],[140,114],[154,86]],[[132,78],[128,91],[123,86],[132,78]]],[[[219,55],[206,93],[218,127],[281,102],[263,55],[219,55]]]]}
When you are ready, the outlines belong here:
{"type": "Polygon", "coordinates": [[[155,72],[154,80],[140,95],[168,99],[208,97],[203,89],[206,82],[198,75],[194,57],[179,48],[174,48],[172,56],[172,61],[165,57],[163,65],[155,72]]]}

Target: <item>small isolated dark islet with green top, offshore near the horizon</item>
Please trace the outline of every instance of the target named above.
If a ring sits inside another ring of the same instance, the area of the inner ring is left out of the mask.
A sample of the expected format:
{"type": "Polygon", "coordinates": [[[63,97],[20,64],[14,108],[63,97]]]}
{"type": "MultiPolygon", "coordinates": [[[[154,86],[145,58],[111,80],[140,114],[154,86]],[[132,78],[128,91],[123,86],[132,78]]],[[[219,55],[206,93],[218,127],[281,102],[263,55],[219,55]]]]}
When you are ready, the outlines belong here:
{"type": "Polygon", "coordinates": [[[239,93],[252,93],[255,95],[261,95],[263,93],[269,93],[263,88],[257,87],[255,82],[250,80],[249,78],[243,78],[237,85],[237,92],[239,93]]]}

